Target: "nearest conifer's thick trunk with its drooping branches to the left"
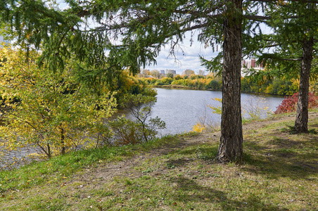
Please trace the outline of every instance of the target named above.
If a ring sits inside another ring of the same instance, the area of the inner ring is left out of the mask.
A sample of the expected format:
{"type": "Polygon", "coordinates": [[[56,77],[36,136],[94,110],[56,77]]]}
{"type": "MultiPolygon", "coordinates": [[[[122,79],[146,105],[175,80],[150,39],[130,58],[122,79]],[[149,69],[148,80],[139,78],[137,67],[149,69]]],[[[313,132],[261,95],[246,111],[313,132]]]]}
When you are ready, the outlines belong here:
{"type": "Polygon", "coordinates": [[[39,63],[63,69],[73,55],[82,79],[111,82],[123,68],[137,73],[155,64],[170,46],[174,52],[186,32],[198,30],[198,41],[223,46],[223,112],[220,162],[240,161],[243,153],[240,72],[243,0],[220,1],[75,1],[65,10],[42,1],[1,1],[1,19],[12,21],[18,42],[42,45],[39,63]],[[93,20],[95,25],[88,25],[93,20]],[[83,65],[84,64],[84,65],[83,65]]]}

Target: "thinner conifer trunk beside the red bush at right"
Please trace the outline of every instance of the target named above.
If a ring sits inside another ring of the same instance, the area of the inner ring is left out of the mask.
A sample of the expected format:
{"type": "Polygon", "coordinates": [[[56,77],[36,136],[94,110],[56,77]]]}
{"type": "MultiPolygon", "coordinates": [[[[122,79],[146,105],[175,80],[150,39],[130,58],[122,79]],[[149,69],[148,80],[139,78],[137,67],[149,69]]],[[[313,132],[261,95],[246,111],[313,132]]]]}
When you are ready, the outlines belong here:
{"type": "Polygon", "coordinates": [[[295,120],[295,132],[308,132],[308,92],[310,68],[312,65],[313,39],[305,39],[303,42],[303,59],[300,69],[300,83],[297,114],[295,120]]]}

